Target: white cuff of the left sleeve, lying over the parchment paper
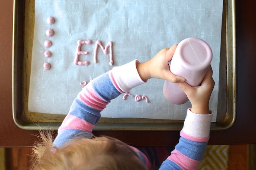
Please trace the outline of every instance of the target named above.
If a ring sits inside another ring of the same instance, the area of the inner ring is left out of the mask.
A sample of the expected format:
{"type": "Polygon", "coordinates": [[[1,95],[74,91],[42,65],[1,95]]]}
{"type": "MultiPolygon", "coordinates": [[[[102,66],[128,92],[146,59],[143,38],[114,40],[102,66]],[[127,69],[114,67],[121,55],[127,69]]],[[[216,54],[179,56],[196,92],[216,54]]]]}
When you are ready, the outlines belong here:
{"type": "Polygon", "coordinates": [[[123,92],[129,92],[133,87],[146,83],[140,78],[136,63],[139,63],[139,61],[133,60],[130,63],[112,69],[116,84],[123,92]]]}

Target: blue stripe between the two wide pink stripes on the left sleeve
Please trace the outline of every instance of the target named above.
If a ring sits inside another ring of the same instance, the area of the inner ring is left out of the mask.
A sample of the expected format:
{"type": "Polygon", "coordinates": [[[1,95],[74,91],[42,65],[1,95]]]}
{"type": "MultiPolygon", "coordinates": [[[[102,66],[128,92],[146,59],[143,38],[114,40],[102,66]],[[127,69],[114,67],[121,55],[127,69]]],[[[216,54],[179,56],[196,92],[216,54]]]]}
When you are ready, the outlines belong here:
{"type": "Polygon", "coordinates": [[[70,108],[69,114],[79,117],[92,125],[95,125],[101,118],[101,112],[76,98],[70,108]]]}

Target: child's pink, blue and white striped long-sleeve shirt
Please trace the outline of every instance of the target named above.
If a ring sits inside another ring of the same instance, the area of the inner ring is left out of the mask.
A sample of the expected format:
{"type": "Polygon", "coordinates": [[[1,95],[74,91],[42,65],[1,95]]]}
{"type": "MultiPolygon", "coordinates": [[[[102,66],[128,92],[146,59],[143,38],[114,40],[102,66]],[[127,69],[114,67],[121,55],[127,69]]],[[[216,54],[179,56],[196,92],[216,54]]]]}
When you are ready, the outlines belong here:
{"type": "MultiPolygon", "coordinates": [[[[146,83],[141,80],[137,72],[136,62],[138,61],[134,60],[126,65],[114,67],[84,87],[73,101],[69,114],[58,129],[58,135],[53,142],[56,147],[77,137],[78,134],[91,138],[92,129],[101,118],[101,111],[111,99],[146,83]]],[[[160,169],[197,169],[209,140],[211,120],[212,113],[195,114],[188,109],[180,132],[180,141],[171,155],[163,161],[160,169]]],[[[152,167],[154,156],[150,155],[154,152],[147,152],[145,148],[132,148],[149,169],[154,167],[152,167]]]]}

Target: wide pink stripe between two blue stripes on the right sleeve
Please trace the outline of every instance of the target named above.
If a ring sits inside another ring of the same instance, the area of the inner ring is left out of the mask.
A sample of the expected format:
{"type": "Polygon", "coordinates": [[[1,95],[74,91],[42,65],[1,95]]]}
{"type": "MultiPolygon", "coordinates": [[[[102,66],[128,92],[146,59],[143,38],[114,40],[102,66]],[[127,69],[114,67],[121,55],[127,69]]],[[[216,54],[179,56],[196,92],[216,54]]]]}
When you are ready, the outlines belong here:
{"type": "Polygon", "coordinates": [[[184,170],[196,170],[201,161],[197,161],[180,153],[178,150],[174,149],[171,155],[167,158],[170,161],[175,162],[184,170]]]}

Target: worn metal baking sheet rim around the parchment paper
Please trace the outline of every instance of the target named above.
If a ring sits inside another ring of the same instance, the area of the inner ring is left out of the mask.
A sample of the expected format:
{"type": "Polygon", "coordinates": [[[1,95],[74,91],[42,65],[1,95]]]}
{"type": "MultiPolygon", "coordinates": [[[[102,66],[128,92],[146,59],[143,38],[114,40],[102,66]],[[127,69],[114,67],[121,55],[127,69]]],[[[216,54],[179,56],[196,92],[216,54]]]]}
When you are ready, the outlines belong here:
{"type": "MultiPolygon", "coordinates": [[[[14,1],[13,28],[13,117],[23,129],[58,129],[66,115],[28,111],[28,93],[34,37],[34,1],[14,1]]],[[[216,122],[212,130],[230,128],[236,117],[235,2],[224,1],[222,17],[219,96],[216,122]]],[[[101,118],[94,131],[180,130],[181,120],[101,118]]]]}

